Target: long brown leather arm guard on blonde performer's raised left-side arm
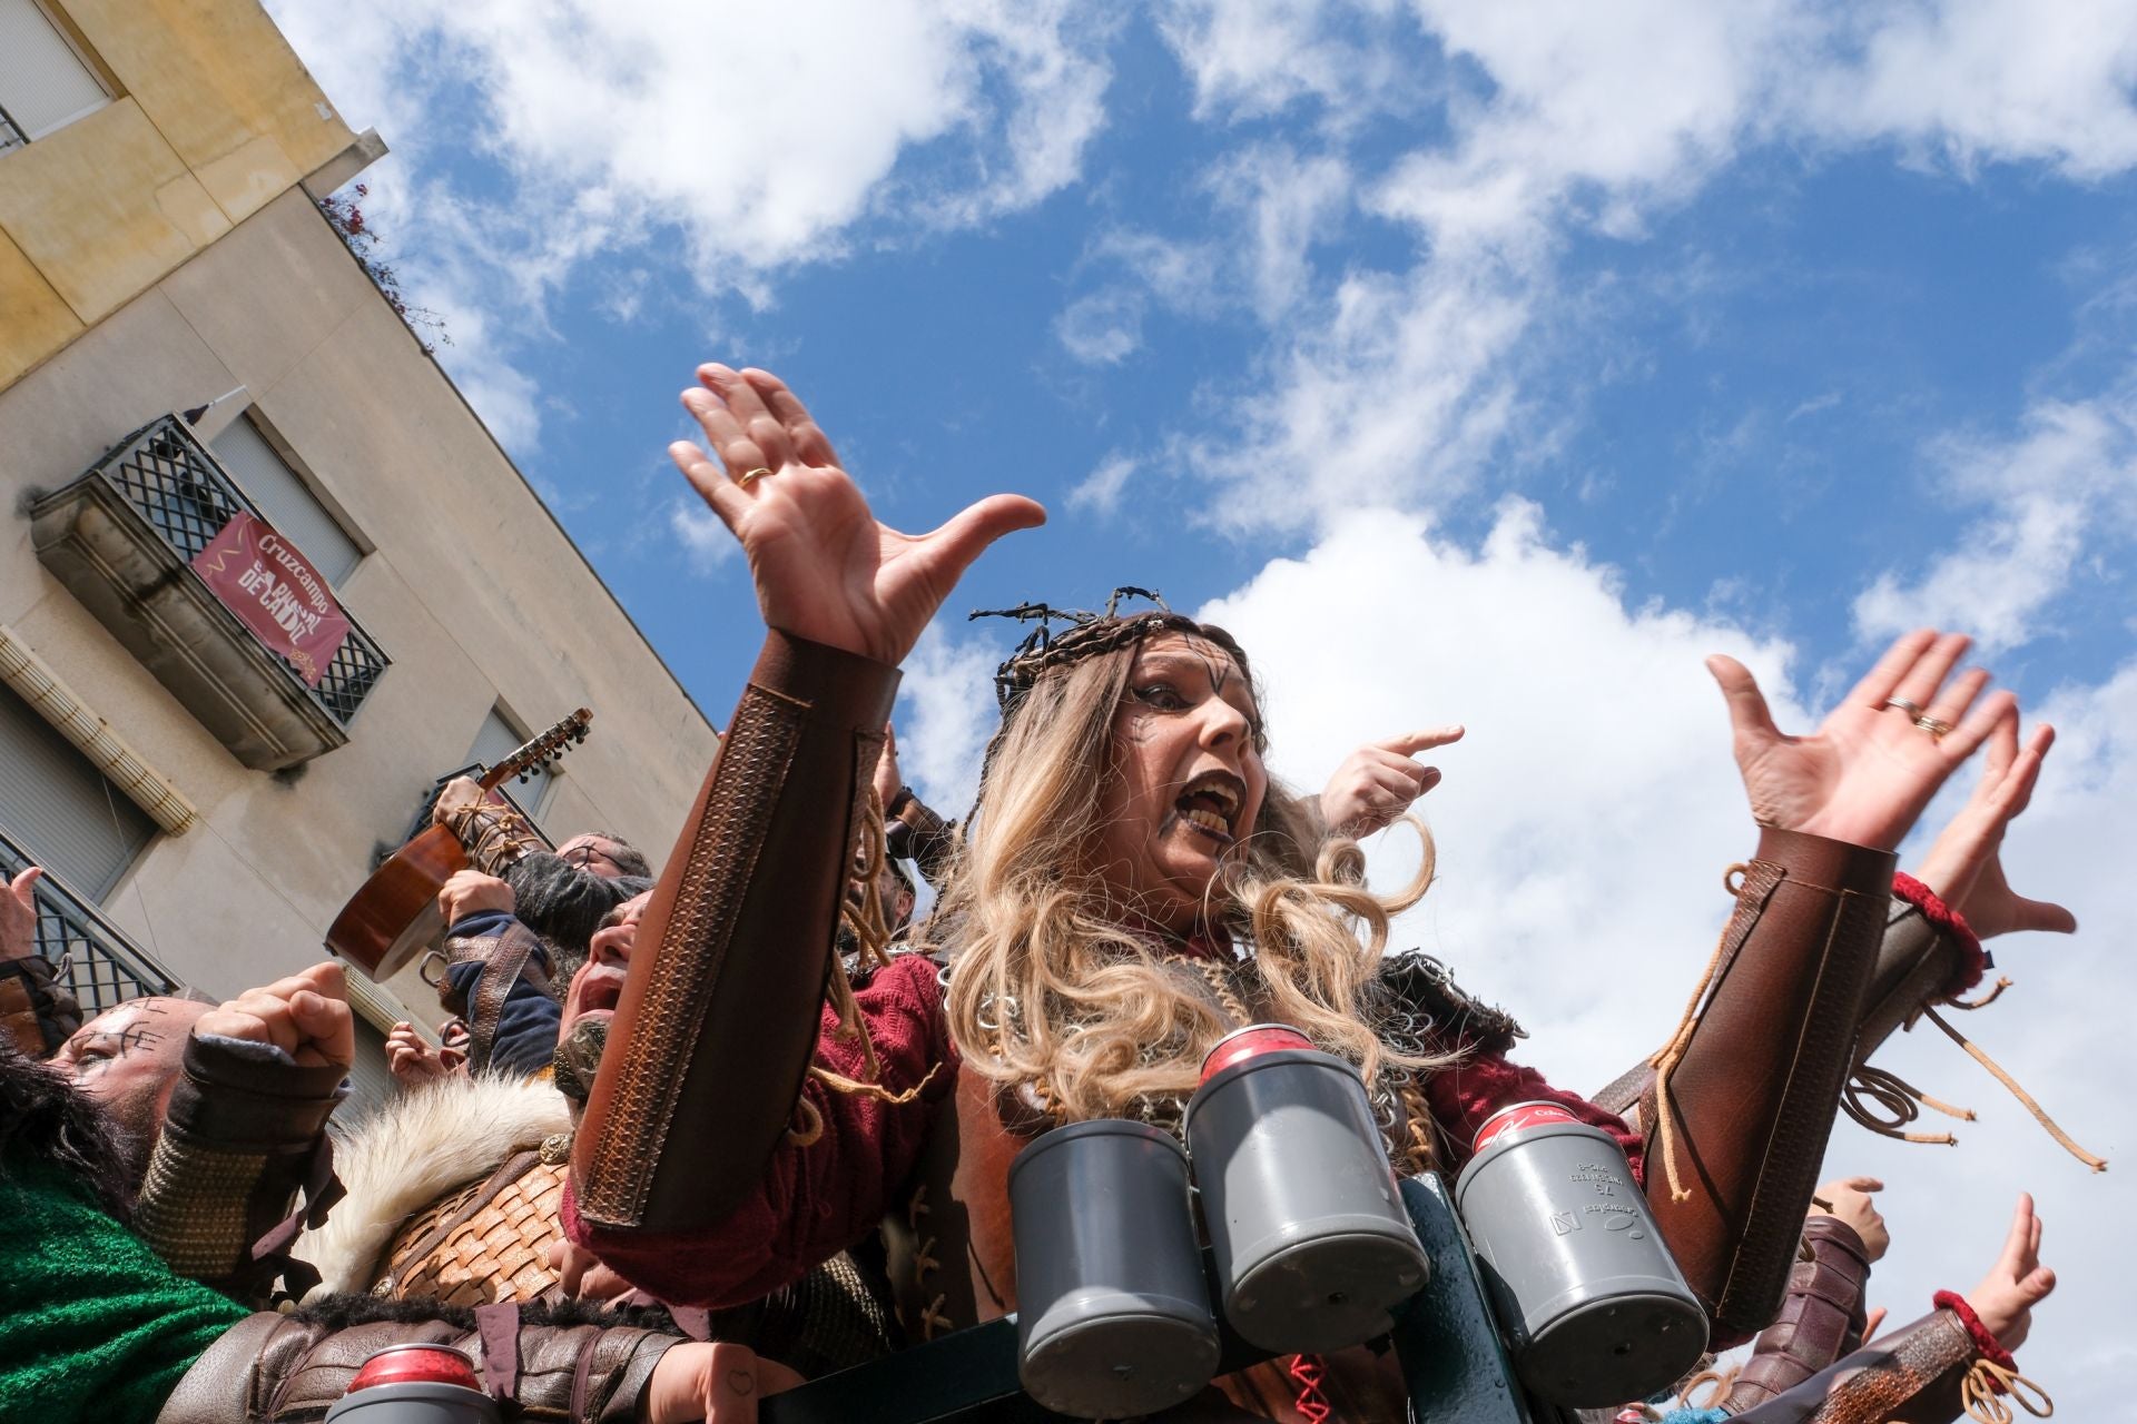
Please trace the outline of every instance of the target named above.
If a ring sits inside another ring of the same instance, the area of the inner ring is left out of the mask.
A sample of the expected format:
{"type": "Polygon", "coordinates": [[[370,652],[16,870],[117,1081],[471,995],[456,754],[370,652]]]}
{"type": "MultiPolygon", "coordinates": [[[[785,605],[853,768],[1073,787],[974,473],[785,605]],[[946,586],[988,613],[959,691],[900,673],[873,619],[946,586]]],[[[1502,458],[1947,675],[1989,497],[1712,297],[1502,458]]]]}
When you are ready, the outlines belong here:
{"type": "Polygon", "coordinates": [[[765,636],[639,922],[573,1146],[588,1221],[699,1230],[763,1178],[816,1048],[857,811],[895,694],[898,668],[765,636]]]}

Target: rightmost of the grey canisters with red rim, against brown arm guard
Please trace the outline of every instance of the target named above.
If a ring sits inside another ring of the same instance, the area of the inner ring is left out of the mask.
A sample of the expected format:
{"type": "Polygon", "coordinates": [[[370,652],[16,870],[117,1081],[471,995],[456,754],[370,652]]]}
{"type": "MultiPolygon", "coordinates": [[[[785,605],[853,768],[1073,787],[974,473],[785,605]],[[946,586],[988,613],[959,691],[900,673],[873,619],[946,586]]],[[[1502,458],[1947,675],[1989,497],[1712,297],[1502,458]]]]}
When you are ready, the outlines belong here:
{"type": "Polygon", "coordinates": [[[1622,1405],[1699,1362],[1705,1311],[1601,1127],[1547,1102],[1496,1112],[1455,1178],[1455,1206],[1515,1371],[1541,1398],[1622,1405]]]}

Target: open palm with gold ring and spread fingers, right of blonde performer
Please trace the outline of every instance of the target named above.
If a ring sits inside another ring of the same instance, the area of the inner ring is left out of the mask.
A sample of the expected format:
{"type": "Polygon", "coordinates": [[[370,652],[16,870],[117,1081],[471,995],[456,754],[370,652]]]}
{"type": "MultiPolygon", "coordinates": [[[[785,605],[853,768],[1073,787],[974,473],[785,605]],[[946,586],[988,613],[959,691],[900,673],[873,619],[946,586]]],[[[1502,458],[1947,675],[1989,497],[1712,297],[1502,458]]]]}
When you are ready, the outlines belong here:
{"type": "Polygon", "coordinates": [[[1707,670],[1729,700],[1737,771],[1761,826],[1896,850],[1960,762],[2017,698],[1981,696],[1990,675],[1951,677],[1972,638],[1934,628],[1896,640],[1810,737],[1787,737],[1750,670],[1716,653],[1707,670]],[[1906,711],[1906,707],[1919,711],[1906,711]],[[1917,717],[1949,730],[1925,730],[1917,717]]]}

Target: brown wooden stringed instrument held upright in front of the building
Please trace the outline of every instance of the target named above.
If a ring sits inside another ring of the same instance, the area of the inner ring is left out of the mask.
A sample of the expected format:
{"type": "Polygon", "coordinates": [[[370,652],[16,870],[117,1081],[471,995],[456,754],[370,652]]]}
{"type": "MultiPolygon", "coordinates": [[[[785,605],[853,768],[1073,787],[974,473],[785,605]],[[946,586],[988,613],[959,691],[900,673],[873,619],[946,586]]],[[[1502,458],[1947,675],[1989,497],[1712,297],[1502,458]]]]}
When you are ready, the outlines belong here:
{"type": "MultiPolygon", "coordinates": [[[[492,792],[511,777],[543,762],[556,762],[571,745],[586,741],[592,719],[594,713],[581,707],[485,771],[477,786],[492,792]]],[[[479,869],[498,875],[517,858],[511,856],[479,869]]],[[[464,869],[468,869],[468,848],[459,843],[459,837],[449,826],[425,826],[421,835],[372,871],[363,888],[348,897],[342,914],[333,916],[333,924],[327,927],[327,952],[340,954],[372,980],[400,974],[408,961],[444,933],[438,890],[453,877],[453,871],[464,869]]]]}

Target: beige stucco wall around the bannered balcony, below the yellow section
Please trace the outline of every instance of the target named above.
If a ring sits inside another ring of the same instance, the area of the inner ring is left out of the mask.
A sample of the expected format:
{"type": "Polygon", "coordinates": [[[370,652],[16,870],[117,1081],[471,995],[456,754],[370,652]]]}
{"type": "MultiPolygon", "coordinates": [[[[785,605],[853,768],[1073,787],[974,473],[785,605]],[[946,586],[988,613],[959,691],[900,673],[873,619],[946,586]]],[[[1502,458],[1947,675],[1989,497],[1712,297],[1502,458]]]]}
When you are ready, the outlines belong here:
{"type": "MultiPolygon", "coordinates": [[[[716,747],[709,724],[301,190],[0,391],[0,508],[237,384],[372,549],[340,591],[393,666],[346,747],[293,784],[248,771],[45,572],[28,519],[9,519],[0,623],[201,809],[194,830],[152,843],[107,914],[216,993],[310,963],[374,845],[400,837],[498,700],[534,730],[594,709],[545,807],[551,833],[605,826],[665,856],[716,747]]],[[[436,1014],[412,978],[395,991],[436,1014]]]]}

